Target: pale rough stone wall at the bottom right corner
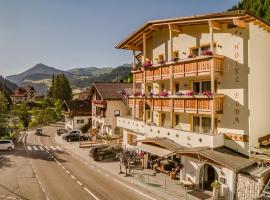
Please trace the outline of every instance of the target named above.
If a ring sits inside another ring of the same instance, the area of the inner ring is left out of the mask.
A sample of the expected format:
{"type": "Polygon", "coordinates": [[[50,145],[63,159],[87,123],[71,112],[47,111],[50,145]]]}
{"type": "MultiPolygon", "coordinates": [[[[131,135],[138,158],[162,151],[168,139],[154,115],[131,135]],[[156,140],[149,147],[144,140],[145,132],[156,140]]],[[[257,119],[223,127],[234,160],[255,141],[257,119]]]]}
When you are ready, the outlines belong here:
{"type": "Polygon", "coordinates": [[[259,196],[264,187],[263,178],[257,179],[252,176],[239,173],[237,175],[237,179],[237,200],[253,200],[254,197],[259,196]]]}

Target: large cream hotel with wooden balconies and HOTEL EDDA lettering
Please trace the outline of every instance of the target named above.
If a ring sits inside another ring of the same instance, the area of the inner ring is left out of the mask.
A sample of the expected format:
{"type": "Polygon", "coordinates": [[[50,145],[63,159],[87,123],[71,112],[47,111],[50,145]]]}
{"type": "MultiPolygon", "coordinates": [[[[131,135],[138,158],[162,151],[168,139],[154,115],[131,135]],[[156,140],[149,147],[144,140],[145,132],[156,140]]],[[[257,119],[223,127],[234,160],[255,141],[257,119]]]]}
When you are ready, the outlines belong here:
{"type": "Polygon", "coordinates": [[[200,189],[218,180],[225,199],[259,195],[260,181],[245,189],[237,178],[270,132],[269,32],[262,19],[233,11],[149,21],[127,36],[116,48],[133,52],[141,92],[117,120],[124,146],[143,151],[145,167],[151,155],[176,155],[180,179],[200,189]]]}

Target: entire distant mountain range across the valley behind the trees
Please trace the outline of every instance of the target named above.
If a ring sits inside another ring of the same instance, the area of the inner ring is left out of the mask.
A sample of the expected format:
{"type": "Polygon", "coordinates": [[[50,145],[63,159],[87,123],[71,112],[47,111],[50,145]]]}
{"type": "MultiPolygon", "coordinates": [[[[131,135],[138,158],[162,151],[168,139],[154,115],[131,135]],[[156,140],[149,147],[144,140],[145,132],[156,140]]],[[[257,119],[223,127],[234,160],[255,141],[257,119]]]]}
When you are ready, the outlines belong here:
{"type": "Polygon", "coordinates": [[[87,67],[62,71],[40,63],[23,73],[8,76],[7,79],[18,84],[18,86],[32,85],[38,94],[46,95],[51,85],[53,74],[65,74],[70,81],[72,89],[81,90],[88,87],[91,82],[118,82],[126,80],[130,70],[131,64],[124,64],[115,68],[87,67]]]}

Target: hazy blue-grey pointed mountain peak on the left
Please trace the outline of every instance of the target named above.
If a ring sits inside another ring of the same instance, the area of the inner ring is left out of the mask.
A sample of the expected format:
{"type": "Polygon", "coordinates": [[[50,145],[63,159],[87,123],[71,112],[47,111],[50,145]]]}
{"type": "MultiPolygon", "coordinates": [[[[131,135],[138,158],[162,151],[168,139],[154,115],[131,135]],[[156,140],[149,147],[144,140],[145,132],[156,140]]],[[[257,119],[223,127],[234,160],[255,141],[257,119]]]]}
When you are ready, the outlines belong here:
{"type": "Polygon", "coordinates": [[[53,67],[49,67],[42,63],[39,63],[23,73],[7,76],[6,78],[9,81],[20,86],[24,82],[24,80],[32,80],[33,77],[38,76],[39,77],[38,80],[41,80],[41,79],[49,78],[53,74],[62,74],[62,73],[64,73],[66,76],[73,76],[73,74],[70,72],[65,72],[59,69],[55,69],[53,67]]]}

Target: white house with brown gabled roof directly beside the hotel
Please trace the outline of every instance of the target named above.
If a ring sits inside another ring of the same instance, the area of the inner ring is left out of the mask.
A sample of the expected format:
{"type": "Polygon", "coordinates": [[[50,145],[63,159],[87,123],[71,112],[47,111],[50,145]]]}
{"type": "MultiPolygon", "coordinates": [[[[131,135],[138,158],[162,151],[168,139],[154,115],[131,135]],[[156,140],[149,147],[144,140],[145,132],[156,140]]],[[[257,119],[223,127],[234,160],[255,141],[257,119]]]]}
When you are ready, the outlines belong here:
{"type": "Polygon", "coordinates": [[[129,114],[126,96],[132,83],[93,83],[89,92],[92,102],[92,128],[101,135],[119,136],[116,117],[129,114]]]}

